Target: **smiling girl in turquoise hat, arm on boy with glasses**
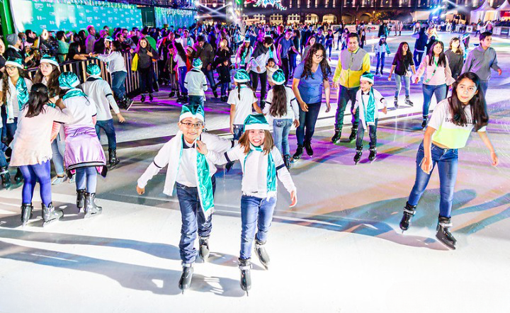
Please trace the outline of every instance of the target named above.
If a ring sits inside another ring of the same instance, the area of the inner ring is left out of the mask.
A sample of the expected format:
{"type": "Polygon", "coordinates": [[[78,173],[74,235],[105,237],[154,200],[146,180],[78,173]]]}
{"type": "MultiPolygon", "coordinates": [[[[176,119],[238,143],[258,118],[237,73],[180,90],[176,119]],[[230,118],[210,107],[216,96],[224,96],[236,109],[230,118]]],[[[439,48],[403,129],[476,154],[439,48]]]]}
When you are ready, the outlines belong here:
{"type": "Polygon", "coordinates": [[[257,256],[263,266],[268,268],[269,256],[264,248],[266,244],[273,210],[276,207],[276,187],[278,178],[290,193],[293,207],[297,203],[296,188],[288,169],[283,164],[280,152],[273,143],[269,124],[262,114],[249,115],[244,121],[246,132],[239,144],[225,152],[208,151],[203,142],[198,142],[198,152],[214,161],[225,164],[239,160],[242,165],[241,198],[241,252],[239,269],[241,270],[241,288],[246,292],[251,288],[251,246],[255,239],[257,256]],[[276,175],[278,173],[278,175],[276,175]],[[258,232],[257,231],[258,228],[258,232]]]}

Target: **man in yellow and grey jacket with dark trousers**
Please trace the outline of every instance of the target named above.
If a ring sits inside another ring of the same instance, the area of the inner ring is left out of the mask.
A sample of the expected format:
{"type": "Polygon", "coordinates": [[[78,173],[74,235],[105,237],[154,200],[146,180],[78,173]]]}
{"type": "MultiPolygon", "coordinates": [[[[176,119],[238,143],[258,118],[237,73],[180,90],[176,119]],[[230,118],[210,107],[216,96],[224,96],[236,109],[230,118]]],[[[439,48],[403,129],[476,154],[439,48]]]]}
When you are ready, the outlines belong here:
{"type": "MultiPolygon", "coordinates": [[[[333,76],[333,87],[339,88],[338,108],[335,115],[335,133],[331,142],[337,142],[341,137],[344,126],[344,114],[347,102],[351,101],[351,111],[356,103],[356,92],[360,88],[360,77],[364,72],[370,72],[370,55],[359,47],[359,37],[356,33],[347,35],[347,49],[340,52],[338,66],[333,76]]],[[[359,111],[352,117],[352,130],[349,141],[356,139],[358,132],[359,111]]]]}

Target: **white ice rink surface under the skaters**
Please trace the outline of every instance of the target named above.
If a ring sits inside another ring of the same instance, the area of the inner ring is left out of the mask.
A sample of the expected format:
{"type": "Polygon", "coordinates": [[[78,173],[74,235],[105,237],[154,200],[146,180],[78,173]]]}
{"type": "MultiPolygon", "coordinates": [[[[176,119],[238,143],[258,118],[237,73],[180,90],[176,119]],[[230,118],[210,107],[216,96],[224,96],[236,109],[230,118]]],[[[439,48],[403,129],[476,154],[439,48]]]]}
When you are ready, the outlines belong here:
{"type": "MultiPolygon", "coordinates": [[[[489,165],[476,134],[460,151],[455,251],[435,239],[436,170],[412,227],[405,234],[398,227],[414,183],[421,119],[380,123],[378,160],[354,166],[354,144],[331,144],[332,120],[324,118],[312,142],[314,157],[303,157],[291,169],[296,207],[288,207],[289,195],[279,186],[267,244],[271,268],[266,271],[252,258],[249,297],[239,288],[237,268],[239,164],[216,174],[212,255],[207,263],[198,258],[191,290],[181,295],[181,215],[176,198],[162,193],[164,171],[145,195],[135,193],[136,179],[163,142],[151,140],[171,135],[154,129],[172,127],[179,109],[136,105],[125,115],[128,124],[115,126],[122,163],[98,180],[103,215],[90,220],[77,215],[74,186],[63,183],[52,195],[64,219],[42,228],[36,189],[35,217],[21,229],[21,188],[0,190],[0,312],[510,312],[510,53],[506,43],[494,42],[504,75],[491,81],[488,130],[501,164],[489,165]],[[161,115],[157,122],[150,120],[155,114],[161,115]]],[[[393,83],[386,83],[381,92],[391,95],[393,83]]],[[[421,85],[413,86],[415,106],[420,91],[421,85]]],[[[210,125],[227,118],[210,114],[210,125]]],[[[225,125],[210,130],[220,128],[225,125]]],[[[344,135],[348,130],[344,127],[344,135]]],[[[294,152],[295,136],[290,142],[294,152]]]]}

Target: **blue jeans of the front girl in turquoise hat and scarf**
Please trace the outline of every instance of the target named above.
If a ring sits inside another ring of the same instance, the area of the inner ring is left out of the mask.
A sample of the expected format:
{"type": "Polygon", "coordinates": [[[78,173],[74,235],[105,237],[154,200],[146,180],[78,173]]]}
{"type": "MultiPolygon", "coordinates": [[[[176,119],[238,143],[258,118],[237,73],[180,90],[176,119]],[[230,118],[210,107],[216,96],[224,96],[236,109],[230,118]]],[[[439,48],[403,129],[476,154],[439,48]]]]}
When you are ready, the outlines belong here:
{"type": "Polygon", "coordinates": [[[273,220],[276,197],[256,198],[243,195],[241,198],[241,253],[239,258],[251,258],[251,246],[254,239],[265,244],[273,220]],[[258,232],[256,230],[258,229],[258,232]],[[256,232],[256,234],[255,234],[256,232]]]}

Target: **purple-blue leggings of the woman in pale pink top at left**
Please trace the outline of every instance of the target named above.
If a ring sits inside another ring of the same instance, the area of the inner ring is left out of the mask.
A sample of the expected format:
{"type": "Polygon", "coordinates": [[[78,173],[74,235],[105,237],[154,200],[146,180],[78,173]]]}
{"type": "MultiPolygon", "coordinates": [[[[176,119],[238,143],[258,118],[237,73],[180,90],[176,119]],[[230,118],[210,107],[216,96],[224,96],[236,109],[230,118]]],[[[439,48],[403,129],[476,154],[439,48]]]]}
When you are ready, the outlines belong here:
{"type": "Polygon", "coordinates": [[[32,203],[35,183],[39,182],[42,204],[46,206],[49,205],[52,202],[50,160],[44,161],[42,164],[22,165],[19,169],[24,179],[23,191],[21,192],[21,203],[32,203]]]}

